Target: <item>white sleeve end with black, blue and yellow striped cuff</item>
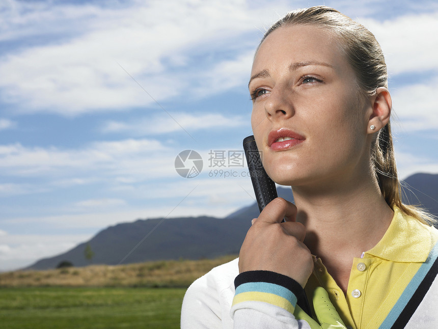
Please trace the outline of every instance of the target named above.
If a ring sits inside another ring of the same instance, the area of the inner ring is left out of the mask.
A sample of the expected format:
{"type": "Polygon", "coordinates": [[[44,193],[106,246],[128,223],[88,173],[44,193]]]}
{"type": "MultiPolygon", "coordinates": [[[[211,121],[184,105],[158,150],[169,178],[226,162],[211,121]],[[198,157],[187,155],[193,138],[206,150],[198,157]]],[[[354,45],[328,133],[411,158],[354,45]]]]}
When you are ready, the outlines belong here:
{"type": "Polygon", "coordinates": [[[231,317],[235,329],[296,329],[293,316],[303,288],[293,279],[270,271],[240,273],[235,281],[231,317]]]}

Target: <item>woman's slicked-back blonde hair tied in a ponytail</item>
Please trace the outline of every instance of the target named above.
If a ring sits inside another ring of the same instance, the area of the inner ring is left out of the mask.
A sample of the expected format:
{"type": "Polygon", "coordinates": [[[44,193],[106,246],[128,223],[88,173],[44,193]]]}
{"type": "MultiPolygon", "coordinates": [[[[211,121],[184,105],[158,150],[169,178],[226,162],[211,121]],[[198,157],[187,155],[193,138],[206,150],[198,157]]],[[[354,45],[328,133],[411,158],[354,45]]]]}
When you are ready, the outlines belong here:
{"type": "MultiPolygon", "coordinates": [[[[318,26],[333,33],[340,40],[339,46],[357,75],[357,85],[365,96],[373,96],[377,88],[388,88],[388,73],[385,57],[374,35],[363,25],[339,11],[325,6],[298,9],[289,12],[274,23],[264,34],[263,40],[276,29],[290,25],[318,26]]],[[[371,145],[374,173],[380,191],[389,206],[397,206],[404,213],[425,224],[433,224],[434,217],[414,205],[401,201],[401,185],[398,179],[391,124],[375,134],[371,145]]]]}

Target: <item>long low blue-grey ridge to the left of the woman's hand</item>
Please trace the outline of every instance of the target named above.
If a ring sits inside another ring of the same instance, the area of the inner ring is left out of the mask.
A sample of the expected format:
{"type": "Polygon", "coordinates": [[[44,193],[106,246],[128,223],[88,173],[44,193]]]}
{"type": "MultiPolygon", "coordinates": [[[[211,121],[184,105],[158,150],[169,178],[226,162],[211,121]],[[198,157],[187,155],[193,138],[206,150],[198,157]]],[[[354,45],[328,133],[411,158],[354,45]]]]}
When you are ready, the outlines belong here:
{"type": "Polygon", "coordinates": [[[74,266],[86,266],[237,255],[251,225],[248,220],[206,216],[166,218],[161,221],[162,218],[154,218],[108,227],[90,241],[64,254],[41,259],[28,269],[54,268],[63,260],[68,260],[74,266]],[[153,233],[144,239],[154,228],[153,233]],[[94,253],[91,261],[84,256],[87,244],[94,253]],[[138,247],[133,250],[137,244],[138,247]]]}

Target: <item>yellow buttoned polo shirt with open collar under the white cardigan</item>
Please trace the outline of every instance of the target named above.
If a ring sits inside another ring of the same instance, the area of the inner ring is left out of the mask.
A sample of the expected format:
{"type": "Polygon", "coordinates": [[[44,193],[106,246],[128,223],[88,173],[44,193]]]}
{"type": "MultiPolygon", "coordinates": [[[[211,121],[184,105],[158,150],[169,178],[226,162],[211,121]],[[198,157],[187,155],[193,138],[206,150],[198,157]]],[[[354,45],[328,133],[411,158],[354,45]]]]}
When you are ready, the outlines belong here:
{"type": "Polygon", "coordinates": [[[315,268],[305,287],[308,299],[312,300],[316,287],[324,287],[347,327],[378,328],[438,241],[438,230],[398,207],[393,210],[382,239],[361,258],[353,259],[346,295],[314,256],[315,268]]]}

